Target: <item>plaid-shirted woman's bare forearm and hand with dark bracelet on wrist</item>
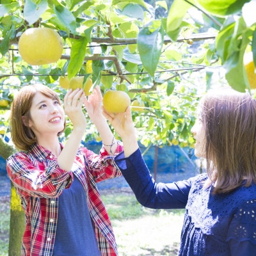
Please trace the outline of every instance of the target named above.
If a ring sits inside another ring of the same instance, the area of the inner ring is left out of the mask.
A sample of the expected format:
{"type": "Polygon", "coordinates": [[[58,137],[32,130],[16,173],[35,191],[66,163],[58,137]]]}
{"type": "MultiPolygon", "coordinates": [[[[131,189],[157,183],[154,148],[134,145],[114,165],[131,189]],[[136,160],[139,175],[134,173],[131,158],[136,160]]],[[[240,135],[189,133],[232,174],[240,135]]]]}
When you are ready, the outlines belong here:
{"type": "Polygon", "coordinates": [[[102,114],[102,95],[99,86],[94,88],[93,93],[88,96],[88,99],[84,99],[84,106],[93,124],[95,124],[99,131],[102,143],[108,154],[115,154],[117,143],[106,118],[102,114]]]}

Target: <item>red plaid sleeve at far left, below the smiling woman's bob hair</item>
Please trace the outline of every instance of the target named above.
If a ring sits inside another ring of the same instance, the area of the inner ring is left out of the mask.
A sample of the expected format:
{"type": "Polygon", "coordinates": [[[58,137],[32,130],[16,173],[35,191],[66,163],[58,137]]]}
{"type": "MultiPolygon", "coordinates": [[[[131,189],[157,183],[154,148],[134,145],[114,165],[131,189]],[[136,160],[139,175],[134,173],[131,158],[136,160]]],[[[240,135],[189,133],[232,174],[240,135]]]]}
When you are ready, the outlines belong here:
{"type": "Polygon", "coordinates": [[[25,196],[59,196],[63,189],[70,186],[73,179],[72,173],[62,170],[56,159],[49,160],[45,168],[43,163],[31,161],[22,152],[7,159],[6,170],[15,188],[25,196]]]}

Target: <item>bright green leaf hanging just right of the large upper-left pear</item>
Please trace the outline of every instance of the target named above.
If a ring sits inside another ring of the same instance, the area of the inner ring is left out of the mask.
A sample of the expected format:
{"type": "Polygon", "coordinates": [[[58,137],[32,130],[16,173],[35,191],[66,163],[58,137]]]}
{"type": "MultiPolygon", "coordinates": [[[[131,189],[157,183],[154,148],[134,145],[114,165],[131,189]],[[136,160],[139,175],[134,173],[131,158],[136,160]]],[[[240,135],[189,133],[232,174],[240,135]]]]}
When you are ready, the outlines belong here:
{"type": "Polygon", "coordinates": [[[68,79],[76,76],[77,72],[79,72],[81,69],[86,53],[87,44],[87,38],[83,36],[72,42],[70,63],[68,64],[68,79]]]}

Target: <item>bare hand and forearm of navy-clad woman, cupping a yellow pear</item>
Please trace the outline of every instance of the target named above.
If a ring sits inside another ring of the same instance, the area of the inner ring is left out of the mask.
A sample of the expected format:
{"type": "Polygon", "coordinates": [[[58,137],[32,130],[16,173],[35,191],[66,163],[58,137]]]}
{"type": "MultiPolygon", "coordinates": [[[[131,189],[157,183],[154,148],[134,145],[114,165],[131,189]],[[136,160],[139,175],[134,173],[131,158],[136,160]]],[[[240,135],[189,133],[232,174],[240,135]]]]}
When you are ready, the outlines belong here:
{"type": "Polygon", "coordinates": [[[128,107],[125,113],[108,113],[105,110],[103,115],[109,120],[116,132],[122,138],[125,157],[131,156],[139,145],[136,138],[136,131],[132,122],[131,107],[128,107]]]}

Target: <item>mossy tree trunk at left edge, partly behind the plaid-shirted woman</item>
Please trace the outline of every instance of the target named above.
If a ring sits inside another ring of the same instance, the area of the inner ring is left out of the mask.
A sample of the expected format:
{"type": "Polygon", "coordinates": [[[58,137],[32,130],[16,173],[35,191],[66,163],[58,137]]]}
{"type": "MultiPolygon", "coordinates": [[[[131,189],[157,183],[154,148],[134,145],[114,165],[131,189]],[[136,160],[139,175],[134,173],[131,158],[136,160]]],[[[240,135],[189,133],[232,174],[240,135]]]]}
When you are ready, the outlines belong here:
{"type": "MultiPolygon", "coordinates": [[[[7,159],[15,153],[8,143],[4,142],[0,136],[0,156],[7,159]]],[[[20,204],[19,195],[11,182],[11,202],[10,202],[10,235],[9,235],[9,256],[19,256],[21,241],[25,228],[25,214],[20,204]]]]}

